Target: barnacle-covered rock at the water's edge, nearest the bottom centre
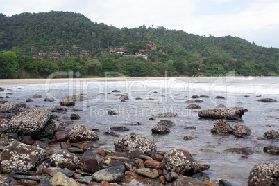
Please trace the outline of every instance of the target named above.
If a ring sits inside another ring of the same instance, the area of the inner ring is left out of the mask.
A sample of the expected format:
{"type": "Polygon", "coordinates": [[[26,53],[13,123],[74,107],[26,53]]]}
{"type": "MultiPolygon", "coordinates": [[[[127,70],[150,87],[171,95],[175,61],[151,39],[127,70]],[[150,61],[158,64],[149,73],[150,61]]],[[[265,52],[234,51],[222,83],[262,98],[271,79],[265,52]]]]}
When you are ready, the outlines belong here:
{"type": "Polygon", "coordinates": [[[153,140],[140,135],[128,135],[119,140],[115,140],[115,151],[130,154],[131,151],[142,151],[145,154],[151,154],[156,151],[156,145],[153,140]]]}

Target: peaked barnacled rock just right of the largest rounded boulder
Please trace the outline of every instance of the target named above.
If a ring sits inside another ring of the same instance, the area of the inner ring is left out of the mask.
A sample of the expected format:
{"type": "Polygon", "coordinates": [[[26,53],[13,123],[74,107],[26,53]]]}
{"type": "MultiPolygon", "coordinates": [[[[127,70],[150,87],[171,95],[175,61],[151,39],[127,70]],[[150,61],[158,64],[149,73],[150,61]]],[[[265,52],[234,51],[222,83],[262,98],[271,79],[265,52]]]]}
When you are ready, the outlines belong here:
{"type": "Polygon", "coordinates": [[[96,132],[90,131],[83,124],[75,124],[68,133],[70,142],[82,142],[86,140],[99,140],[96,132]]]}

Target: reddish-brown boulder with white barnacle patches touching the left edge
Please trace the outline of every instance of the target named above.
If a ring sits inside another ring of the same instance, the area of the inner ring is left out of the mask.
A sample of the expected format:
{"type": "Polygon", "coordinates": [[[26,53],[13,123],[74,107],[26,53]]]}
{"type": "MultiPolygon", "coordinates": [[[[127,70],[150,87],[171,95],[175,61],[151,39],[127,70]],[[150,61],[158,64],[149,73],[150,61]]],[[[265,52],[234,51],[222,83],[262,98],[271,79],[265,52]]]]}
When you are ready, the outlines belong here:
{"type": "Polygon", "coordinates": [[[45,152],[40,147],[12,142],[1,154],[1,165],[7,170],[28,171],[44,160],[45,152]]]}

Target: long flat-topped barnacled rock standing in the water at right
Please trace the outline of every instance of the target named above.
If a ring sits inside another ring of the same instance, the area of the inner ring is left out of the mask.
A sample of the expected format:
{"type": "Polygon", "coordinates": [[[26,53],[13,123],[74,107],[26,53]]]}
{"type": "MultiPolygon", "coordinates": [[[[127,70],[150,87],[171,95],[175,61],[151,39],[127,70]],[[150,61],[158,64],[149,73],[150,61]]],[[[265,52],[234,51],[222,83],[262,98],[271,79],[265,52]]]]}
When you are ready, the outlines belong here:
{"type": "Polygon", "coordinates": [[[246,109],[243,107],[227,107],[223,109],[208,109],[198,112],[200,118],[238,120],[242,118],[246,109]]]}

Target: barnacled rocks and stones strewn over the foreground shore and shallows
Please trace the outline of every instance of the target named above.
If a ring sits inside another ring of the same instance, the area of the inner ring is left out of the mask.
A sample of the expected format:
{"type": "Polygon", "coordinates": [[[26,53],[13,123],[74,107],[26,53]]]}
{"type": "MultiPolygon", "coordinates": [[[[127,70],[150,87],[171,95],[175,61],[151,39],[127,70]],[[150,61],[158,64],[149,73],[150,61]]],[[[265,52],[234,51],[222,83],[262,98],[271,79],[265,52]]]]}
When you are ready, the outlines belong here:
{"type": "MultiPolygon", "coordinates": [[[[127,100],[126,96],[125,99],[121,97],[121,100],[127,100]]],[[[186,149],[158,151],[154,140],[133,131],[119,137],[113,131],[101,134],[99,129],[76,122],[70,130],[65,126],[71,123],[56,123],[60,120],[57,113],[67,113],[74,109],[76,102],[83,100],[87,98],[81,95],[65,97],[55,108],[29,108],[24,102],[0,104],[0,185],[231,185],[226,179],[203,178],[204,171],[210,170],[210,166],[194,160],[186,149]],[[114,151],[92,145],[101,135],[112,136],[114,151]]],[[[230,120],[240,120],[246,111],[242,107],[208,109],[199,111],[198,116],[218,119],[212,121],[213,136],[249,138],[251,129],[244,124],[230,126],[230,120]]],[[[109,111],[108,115],[117,113],[109,111]]],[[[160,113],[149,118],[158,120],[149,132],[169,133],[171,127],[176,126],[171,118],[177,116],[176,113],[160,113]]],[[[71,120],[78,118],[78,114],[71,115],[71,120]]],[[[111,130],[127,131],[127,128],[111,130]]],[[[196,136],[185,136],[184,139],[194,138],[196,136]]],[[[261,140],[276,138],[279,138],[279,132],[270,130],[263,133],[261,140]]],[[[269,145],[262,151],[275,157],[279,155],[278,145],[269,145]]],[[[248,148],[230,148],[226,152],[253,154],[248,148]]],[[[278,185],[278,163],[255,165],[247,184],[278,185]]]]}

